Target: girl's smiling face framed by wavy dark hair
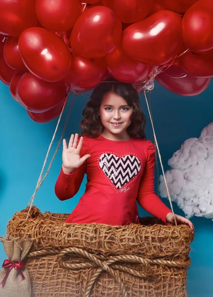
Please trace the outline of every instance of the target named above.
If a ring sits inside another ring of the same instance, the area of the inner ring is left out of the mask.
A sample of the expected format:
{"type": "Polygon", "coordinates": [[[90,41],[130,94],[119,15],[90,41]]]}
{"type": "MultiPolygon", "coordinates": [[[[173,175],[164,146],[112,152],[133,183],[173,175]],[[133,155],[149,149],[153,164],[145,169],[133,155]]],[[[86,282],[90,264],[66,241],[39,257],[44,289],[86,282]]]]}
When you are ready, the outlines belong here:
{"type": "Polygon", "coordinates": [[[119,95],[105,94],[99,108],[101,123],[104,126],[103,136],[111,140],[130,139],[127,128],[131,124],[132,106],[119,95]]]}

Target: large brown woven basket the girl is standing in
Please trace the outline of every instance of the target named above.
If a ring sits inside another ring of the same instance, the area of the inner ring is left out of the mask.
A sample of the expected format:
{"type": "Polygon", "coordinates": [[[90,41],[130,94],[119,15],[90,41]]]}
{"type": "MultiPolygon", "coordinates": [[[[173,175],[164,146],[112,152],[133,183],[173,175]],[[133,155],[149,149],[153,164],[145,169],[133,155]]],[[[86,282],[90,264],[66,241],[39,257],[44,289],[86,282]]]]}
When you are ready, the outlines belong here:
{"type": "Polygon", "coordinates": [[[194,235],[186,225],[67,224],[68,214],[33,206],[15,213],[7,235],[33,240],[25,258],[33,297],[186,297],[194,235]]]}

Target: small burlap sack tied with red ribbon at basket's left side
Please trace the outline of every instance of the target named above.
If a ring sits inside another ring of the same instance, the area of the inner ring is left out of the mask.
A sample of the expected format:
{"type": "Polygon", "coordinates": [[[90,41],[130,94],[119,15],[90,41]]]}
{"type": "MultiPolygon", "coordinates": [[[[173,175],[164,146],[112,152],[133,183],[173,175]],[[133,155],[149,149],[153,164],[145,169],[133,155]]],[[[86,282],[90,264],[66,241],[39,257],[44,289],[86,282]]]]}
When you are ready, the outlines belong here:
{"type": "MultiPolygon", "coordinates": [[[[10,261],[23,261],[27,256],[33,241],[31,239],[20,238],[0,238],[3,243],[7,258],[10,261]]],[[[31,297],[30,275],[25,267],[18,271],[14,267],[11,268],[4,286],[2,281],[9,268],[1,268],[0,270],[0,297],[31,297]],[[22,273],[24,279],[22,280],[22,273]]]]}

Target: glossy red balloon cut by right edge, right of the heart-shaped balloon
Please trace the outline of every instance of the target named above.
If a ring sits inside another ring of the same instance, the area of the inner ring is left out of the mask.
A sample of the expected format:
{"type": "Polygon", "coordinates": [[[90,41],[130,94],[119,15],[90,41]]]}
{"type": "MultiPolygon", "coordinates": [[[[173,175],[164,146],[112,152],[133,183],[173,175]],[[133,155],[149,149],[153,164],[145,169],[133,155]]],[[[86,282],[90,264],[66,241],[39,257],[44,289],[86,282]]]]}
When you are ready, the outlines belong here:
{"type": "Polygon", "coordinates": [[[184,14],[183,40],[194,52],[213,49],[213,1],[200,0],[184,14]]]}

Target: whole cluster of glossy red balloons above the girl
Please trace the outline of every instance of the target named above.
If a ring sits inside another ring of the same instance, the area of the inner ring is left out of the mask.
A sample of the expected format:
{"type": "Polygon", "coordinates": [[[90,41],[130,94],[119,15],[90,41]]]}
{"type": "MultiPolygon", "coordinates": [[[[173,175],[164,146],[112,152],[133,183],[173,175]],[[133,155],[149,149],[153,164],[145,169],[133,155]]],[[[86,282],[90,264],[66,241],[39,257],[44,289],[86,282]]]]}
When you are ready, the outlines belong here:
{"type": "Polygon", "coordinates": [[[0,80],[34,121],[57,117],[68,88],[112,76],[142,90],[156,69],[176,94],[208,87],[212,0],[0,0],[0,80]]]}

